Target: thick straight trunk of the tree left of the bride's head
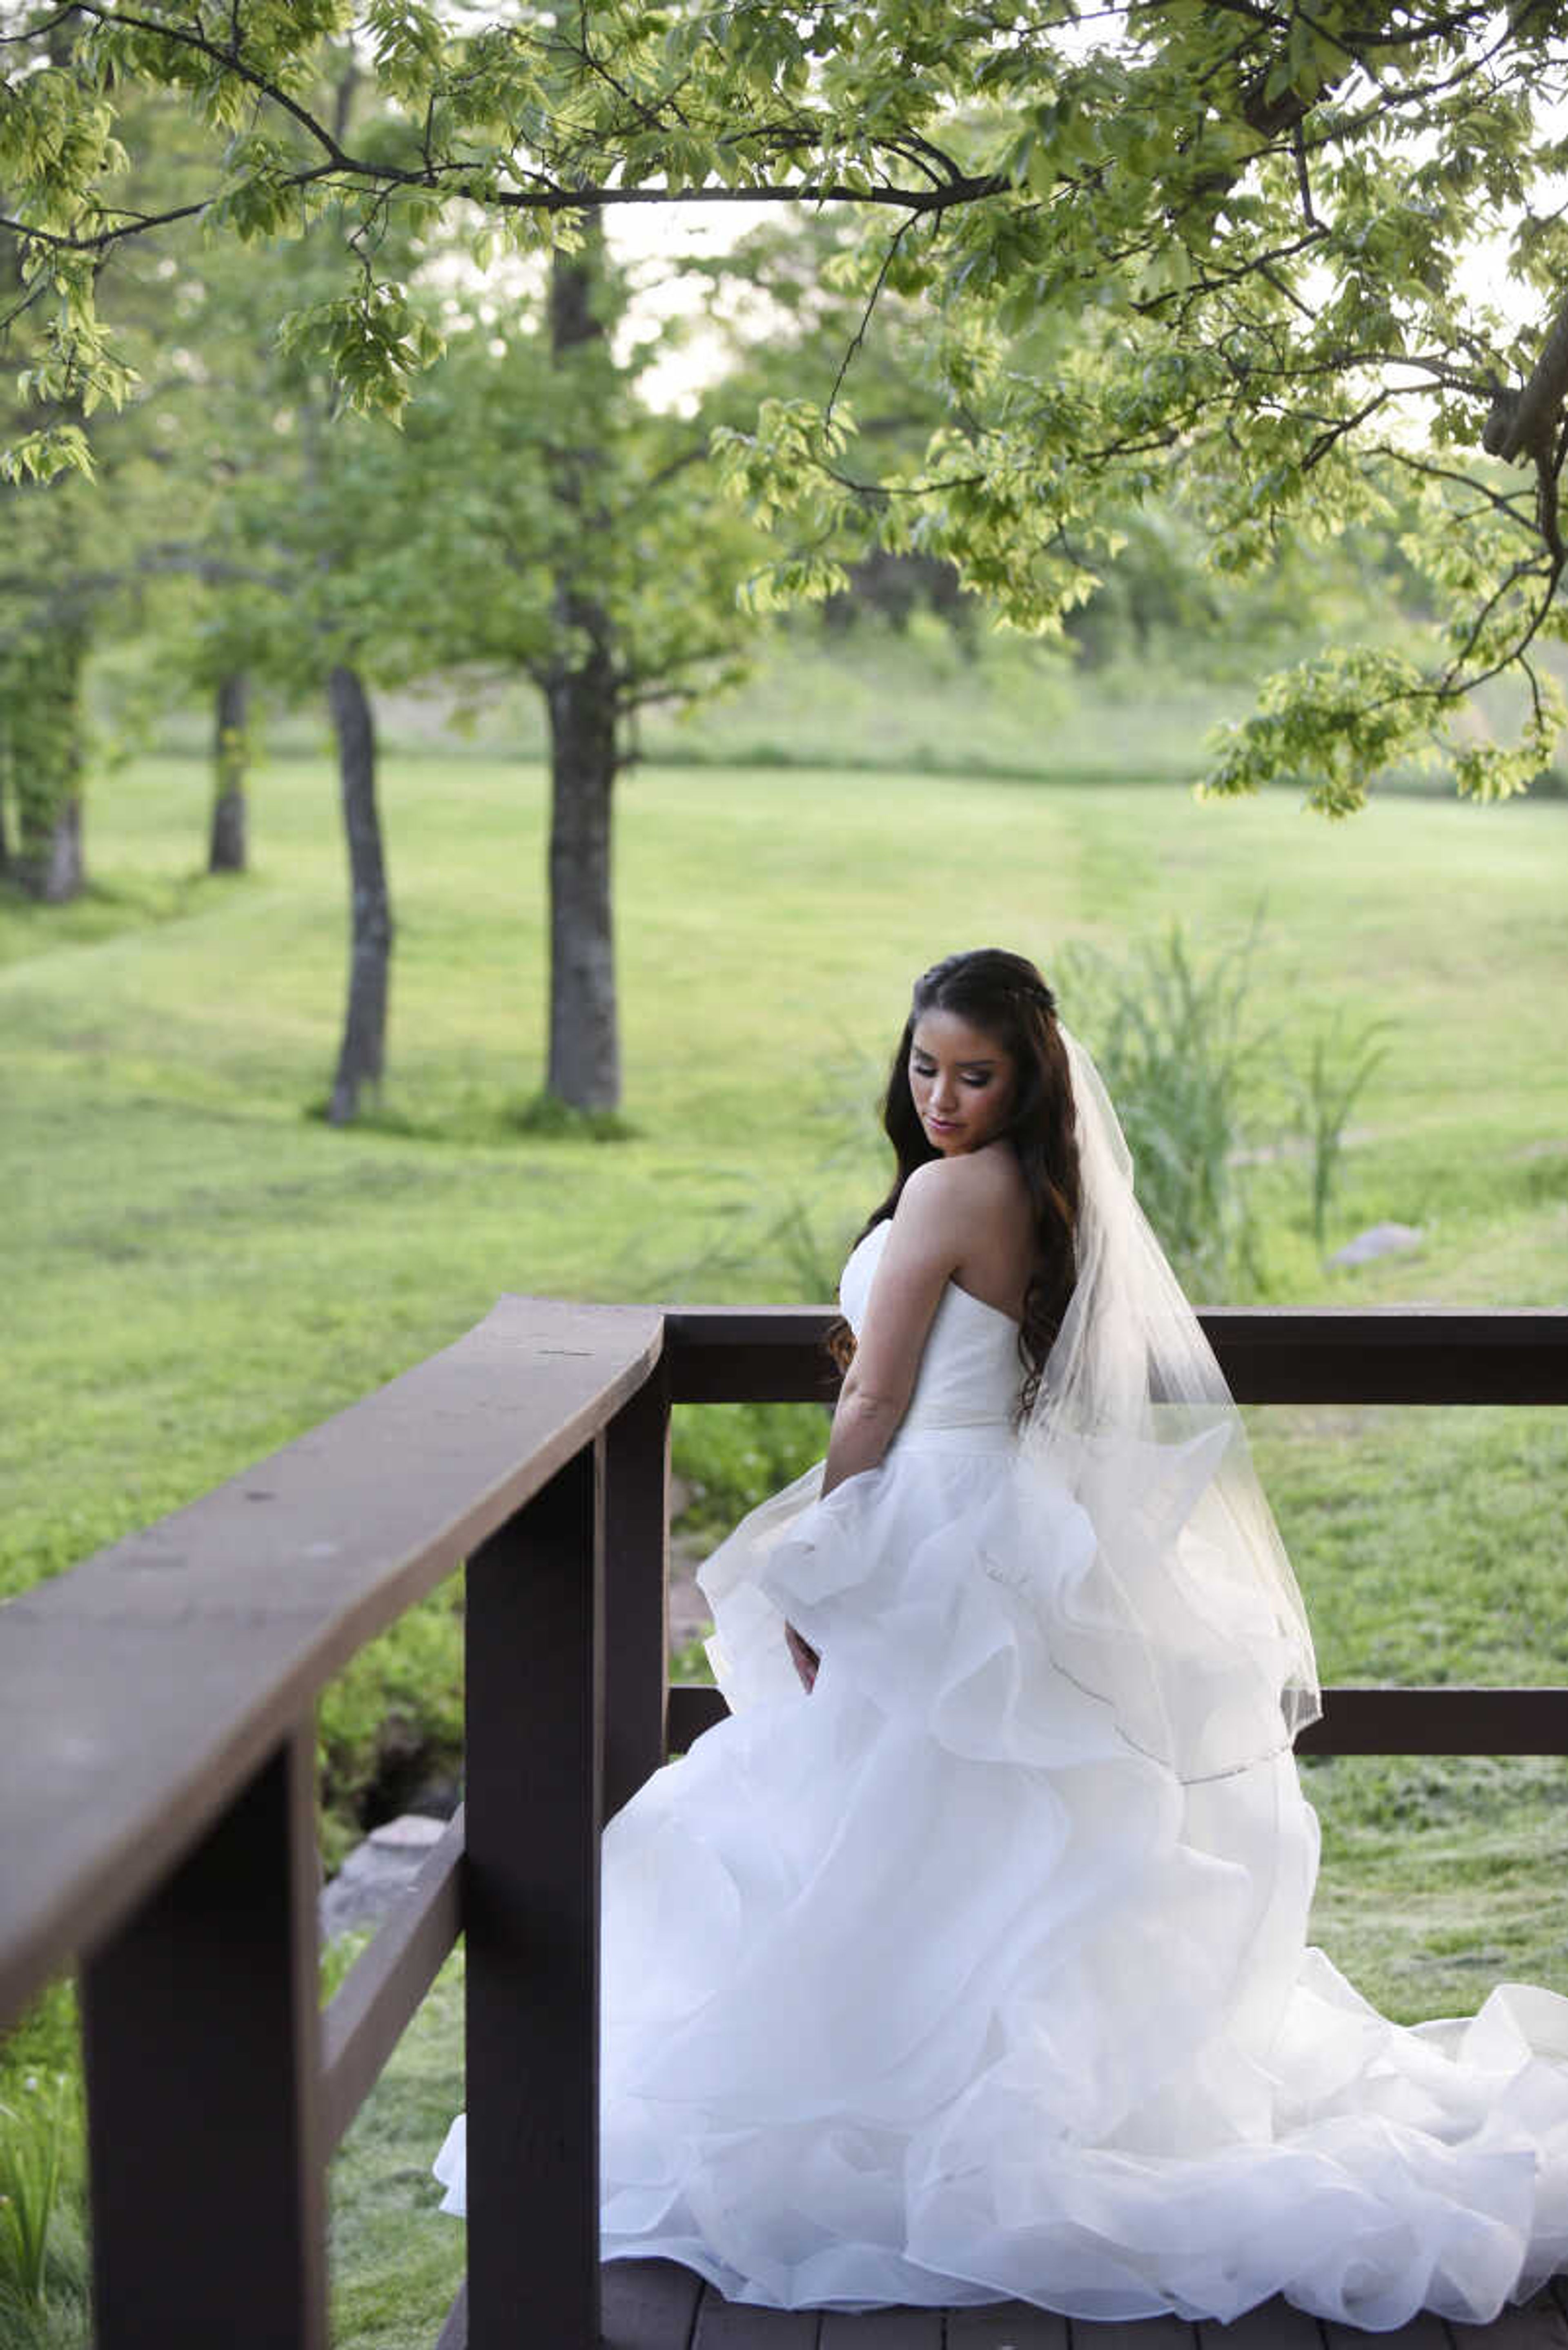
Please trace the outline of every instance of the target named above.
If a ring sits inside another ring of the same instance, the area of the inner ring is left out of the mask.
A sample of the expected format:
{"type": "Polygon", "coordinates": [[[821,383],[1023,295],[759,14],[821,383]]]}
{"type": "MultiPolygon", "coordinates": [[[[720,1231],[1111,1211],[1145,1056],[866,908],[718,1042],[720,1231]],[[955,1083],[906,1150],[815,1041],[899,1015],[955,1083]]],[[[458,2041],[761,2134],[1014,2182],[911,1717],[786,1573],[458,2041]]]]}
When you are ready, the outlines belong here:
{"type": "MultiPolygon", "coordinates": [[[[595,310],[602,263],[595,219],[576,254],[550,258],[550,352],[557,367],[604,341],[595,310]]],[[[555,625],[567,651],[548,684],[550,707],[550,1067],[548,1090],[574,1109],[616,1109],[621,1043],[611,919],[611,799],[616,787],[616,679],[611,623],[588,592],[578,557],[592,545],[595,407],[574,414],[574,444],[552,456],[562,510],[555,625]]]]}

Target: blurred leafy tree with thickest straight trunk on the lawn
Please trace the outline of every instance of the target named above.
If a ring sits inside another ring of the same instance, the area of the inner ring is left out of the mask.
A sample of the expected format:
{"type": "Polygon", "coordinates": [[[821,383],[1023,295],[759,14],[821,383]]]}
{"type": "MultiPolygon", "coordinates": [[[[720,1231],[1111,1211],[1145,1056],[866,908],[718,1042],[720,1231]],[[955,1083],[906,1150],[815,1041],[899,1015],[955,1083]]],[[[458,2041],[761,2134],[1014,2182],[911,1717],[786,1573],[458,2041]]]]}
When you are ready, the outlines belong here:
{"type": "Polygon", "coordinates": [[[708,414],[642,400],[679,327],[625,348],[623,322],[625,280],[597,223],[550,256],[543,298],[449,298],[447,355],[404,416],[407,588],[378,580],[393,632],[418,599],[423,667],[527,677],[545,703],[545,1121],[621,1102],[616,778],[644,705],[738,674],[755,623],[736,595],[762,562],[703,463],[708,414]]]}

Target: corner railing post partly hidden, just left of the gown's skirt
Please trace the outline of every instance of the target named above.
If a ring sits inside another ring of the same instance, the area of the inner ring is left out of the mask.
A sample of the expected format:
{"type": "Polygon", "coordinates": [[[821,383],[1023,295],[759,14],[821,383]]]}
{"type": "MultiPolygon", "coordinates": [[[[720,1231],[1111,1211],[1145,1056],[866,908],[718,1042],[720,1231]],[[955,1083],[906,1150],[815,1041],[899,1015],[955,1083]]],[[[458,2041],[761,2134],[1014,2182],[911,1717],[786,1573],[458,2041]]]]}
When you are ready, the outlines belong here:
{"type": "Polygon", "coordinates": [[[670,1382],[658,1363],[604,1431],[604,1819],[668,1758],[670,1382]]]}

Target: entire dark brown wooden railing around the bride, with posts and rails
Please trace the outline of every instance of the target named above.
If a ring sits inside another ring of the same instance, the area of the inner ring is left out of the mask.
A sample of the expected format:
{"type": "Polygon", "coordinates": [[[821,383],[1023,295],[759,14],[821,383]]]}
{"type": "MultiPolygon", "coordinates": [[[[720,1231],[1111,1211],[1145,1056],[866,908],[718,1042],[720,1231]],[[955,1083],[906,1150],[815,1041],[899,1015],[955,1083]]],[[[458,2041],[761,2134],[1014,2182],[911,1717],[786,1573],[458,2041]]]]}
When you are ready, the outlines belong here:
{"type": "MultiPolygon", "coordinates": [[[[1204,1321],[1241,1401],[1568,1403],[1568,1314],[1204,1321]]],[[[830,1401],[825,1323],[505,1297],[0,1607],[0,2028],[75,1962],[99,2350],[324,2350],[327,2160],[458,1934],[442,2345],[597,2345],[597,1835],[724,1711],[665,1687],[670,1405],[830,1401]],[[465,1802],[322,2016],[315,1699],[461,1560],[465,1802]]],[[[1568,1690],[1331,1690],[1302,1748],[1561,1755],[1568,1690]]]]}

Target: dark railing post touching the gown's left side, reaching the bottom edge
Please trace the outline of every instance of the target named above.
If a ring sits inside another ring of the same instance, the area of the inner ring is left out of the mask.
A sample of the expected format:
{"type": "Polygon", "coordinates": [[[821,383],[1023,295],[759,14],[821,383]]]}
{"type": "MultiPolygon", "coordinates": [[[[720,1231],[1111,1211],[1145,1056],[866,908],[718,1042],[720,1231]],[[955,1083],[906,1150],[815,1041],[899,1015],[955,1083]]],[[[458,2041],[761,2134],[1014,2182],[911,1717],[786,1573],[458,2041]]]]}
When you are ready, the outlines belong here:
{"type": "Polygon", "coordinates": [[[602,1459],[468,1560],[473,2350],[599,2343],[602,1459]]]}

